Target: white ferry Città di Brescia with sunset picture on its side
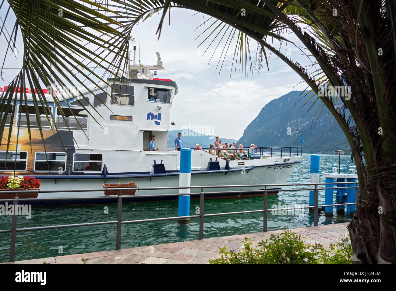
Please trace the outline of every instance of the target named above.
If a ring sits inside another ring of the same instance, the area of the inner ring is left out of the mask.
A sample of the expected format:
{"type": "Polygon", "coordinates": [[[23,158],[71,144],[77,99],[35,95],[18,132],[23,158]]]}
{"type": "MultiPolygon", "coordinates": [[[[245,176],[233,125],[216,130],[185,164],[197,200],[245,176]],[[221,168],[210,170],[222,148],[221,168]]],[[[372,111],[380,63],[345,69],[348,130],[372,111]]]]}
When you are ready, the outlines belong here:
{"type": "MultiPolygon", "coordinates": [[[[29,89],[15,88],[17,92],[26,90],[28,110],[23,101],[19,120],[21,104],[14,94],[10,110],[1,113],[1,118],[3,114],[7,114],[7,127],[0,147],[1,174],[29,175],[41,180],[41,191],[59,191],[38,194],[38,198],[58,198],[36,203],[40,205],[109,203],[109,200],[98,199],[105,197],[103,191],[62,192],[62,189],[98,189],[102,188],[102,184],[117,184],[120,181],[126,184],[134,181],[140,188],[178,186],[180,152],[167,149],[168,130],[172,121],[171,108],[177,101],[178,87],[170,79],[156,78],[156,71],[164,69],[159,53],[157,57],[157,64],[153,66],[134,61],[129,66],[128,76],[108,79],[108,84],[114,84],[112,87],[102,82],[89,86],[92,93],[84,89],[81,93],[89,99],[92,106],[88,106],[88,102],[81,95],[64,96],[64,100],[59,96],[63,100],[60,108],[51,94],[44,89],[44,93],[48,93],[46,101],[49,107],[42,104],[38,104],[38,107],[42,113],[40,122],[45,147],[36,116],[32,114],[34,105],[29,89]],[[11,119],[12,110],[15,113],[11,119]],[[60,110],[65,113],[65,117],[60,110]],[[51,129],[46,112],[55,117],[54,122],[59,133],[51,129]],[[27,131],[28,115],[31,146],[27,131]],[[9,131],[11,138],[6,156],[9,131]],[[159,151],[149,150],[152,135],[156,137],[155,144],[159,151]],[[86,199],[62,199],[76,197],[86,199]]],[[[230,184],[284,184],[301,162],[302,147],[258,147],[257,156],[259,158],[228,162],[213,156],[208,150],[192,150],[191,186],[215,185],[219,187],[211,188],[210,191],[219,192],[264,190],[263,187],[244,186],[236,189],[221,188],[222,185],[230,184]]],[[[280,187],[273,186],[268,189],[269,195],[276,195],[280,187]]],[[[176,191],[163,190],[161,194],[176,191]]],[[[191,189],[191,193],[193,192],[198,192],[198,189],[191,189]]],[[[125,196],[124,202],[139,201],[139,196],[152,194],[159,193],[156,190],[136,191],[134,196],[125,196]]],[[[263,192],[244,192],[229,195],[207,194],[205,197],[262,195],[263,192]]],[[[175,198],[177,197],[168,196],[166,199],[175,198]]]]}

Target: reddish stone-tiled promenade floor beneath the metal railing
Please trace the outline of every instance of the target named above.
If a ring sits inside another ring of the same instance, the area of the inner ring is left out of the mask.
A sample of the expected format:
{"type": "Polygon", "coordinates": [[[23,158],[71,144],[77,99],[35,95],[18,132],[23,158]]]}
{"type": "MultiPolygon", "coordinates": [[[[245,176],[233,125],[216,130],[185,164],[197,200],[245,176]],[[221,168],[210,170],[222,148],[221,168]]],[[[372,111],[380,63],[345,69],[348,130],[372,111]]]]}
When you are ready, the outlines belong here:
{"type": "MultiPolygon", "coordinates": [[[[322,243],[325,247],[341,239],[347,233],[348,223],[327,224],[306,228],[294,228],[293,232],[301,235],[306,243],[322,243]]],[[[114,251],[99,251],[49,257],[45,259],[33,259],[3,264],[208,264],[209,259],[219,257],[219,247],[227,247],[228,250],[239,250],[241,241],[245,237],[257,245],[273,233],[284,230],[258,232],[253,234],[239,234],[236,236],[223,236],[221,238],[208,238],[206,240],[192,240],[187,242],[164,243],[145,247],[133,247],[114,251]]]]}

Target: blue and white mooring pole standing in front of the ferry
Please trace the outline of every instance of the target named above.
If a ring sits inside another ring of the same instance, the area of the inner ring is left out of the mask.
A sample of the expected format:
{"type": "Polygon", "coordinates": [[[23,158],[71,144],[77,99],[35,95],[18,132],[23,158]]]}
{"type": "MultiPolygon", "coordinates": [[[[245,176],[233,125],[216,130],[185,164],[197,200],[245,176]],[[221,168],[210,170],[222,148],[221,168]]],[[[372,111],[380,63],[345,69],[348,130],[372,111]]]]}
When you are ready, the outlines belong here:
{"type": "MultiPolygon", "coordinates": [[[[179,187],[190,186],[191,184],[191,149],[181,148],[180,150],[180,174],[179,187]]],[[[179,193],[190,193],[190,189],[179,189],[179,193]]],[[[179,196],[178,216],[190,215],[190,195],[179,196]]],[[[179,219],[179,222],[186,223],[189,219],[179,219]]]]}

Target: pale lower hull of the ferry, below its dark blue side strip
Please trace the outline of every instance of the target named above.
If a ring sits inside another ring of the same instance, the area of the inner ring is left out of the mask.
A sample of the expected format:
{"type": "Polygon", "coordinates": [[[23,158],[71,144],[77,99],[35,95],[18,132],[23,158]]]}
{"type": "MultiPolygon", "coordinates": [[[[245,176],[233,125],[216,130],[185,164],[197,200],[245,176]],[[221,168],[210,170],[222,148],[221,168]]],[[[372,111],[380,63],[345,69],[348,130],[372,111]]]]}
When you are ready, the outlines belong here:
{"type": "MultiPolygon", "coordinates": [[[[218,173],[199,173],[200,171],[192,171],[191,175],[191,186],[219,186],[218,188],[206,188],[204,192],[212,192],[212,194],[207,194],[206,197],[217,197],[217,198],[232,198],[239,196],[261,196],[263,192],[259,193],[230,193],[230,194],[213,194],[213,192],[232,192],[232,191],[254,191],[254,190],[263,190],[264,186],[255,186],[255,187],[247,187],[244,185],[252,185],[252,184],[284,184],[287,179],[294,171],[295,167],[298,165],[298,162],[290,163],[287,165],[291,165],[286,168],[286,166],[282,167],[282,165],[265,165],[254,167],[253,169],[232,169],[231,171],[223,171],[218,173]],[[278,168],[279,167],[279,168],[278,168]],[[282,167],[282,168],[281,168],[282,167]],[[277,169],[278,168],[278,169],[277,169]],[[240,185],[238,187],[232,188],[222,188],[223,185],[240,185]]],[[[175,175],[166,175],[159,177],[141,177],[141,178],[106,178],[106,177],[98,177],[98,179],[45,179],[42,180],[41,190],[51,190],[57,191],[59,189],[69,189],[69,190],[81,190],[81,189],[98,189],[103,188],[102,184],[117,184],[123,181],[124,184],[129,183],[129,181],[134,181],[139,188],[146,187],[172,187],[179,186],[179,175],[175,173],[175,175]],[[151,178],[151,179],[150,179],[151,178]]],[[[268,190],[272,189],[269,195],[276,195],[278,193],[280,186],[268,186],[268,190]]],[[[191,189],[191,193],[200,192],[200,188],[191,189]]],[[[176,197],[167,197],[167,198],[158,198],[155,199],[147,199],[141,198],[139,196],[146,195],[160,195],[160,194],[176,194],[179,191],[177,189],[164,189],[164,190],[138,190],[136,191],[134,196],[124,196],[126,199],[131,200],[130,198],[134,198],[136,201],[144,201],[144,200],[168,200],[175,199],[176,197]]],[[[90,199],[92,197],[106,197],[103,191],[95,191],[95,192],[56,192],[56,193],[40,193],[38,198],[57,198],[59,201],[50,201],[46,203],[44,201],[40,201],[39,204],[79,204],[79,203],[109,203],[109,200],[93,200],[90,199]],[[86,198],[84,200],[63,200],[62,198],[86,198]]],[[[198,196],[196,196],[198,197],[198,196]]],[[[153,197],[154,198],[154,197],[153,197]]]]}

